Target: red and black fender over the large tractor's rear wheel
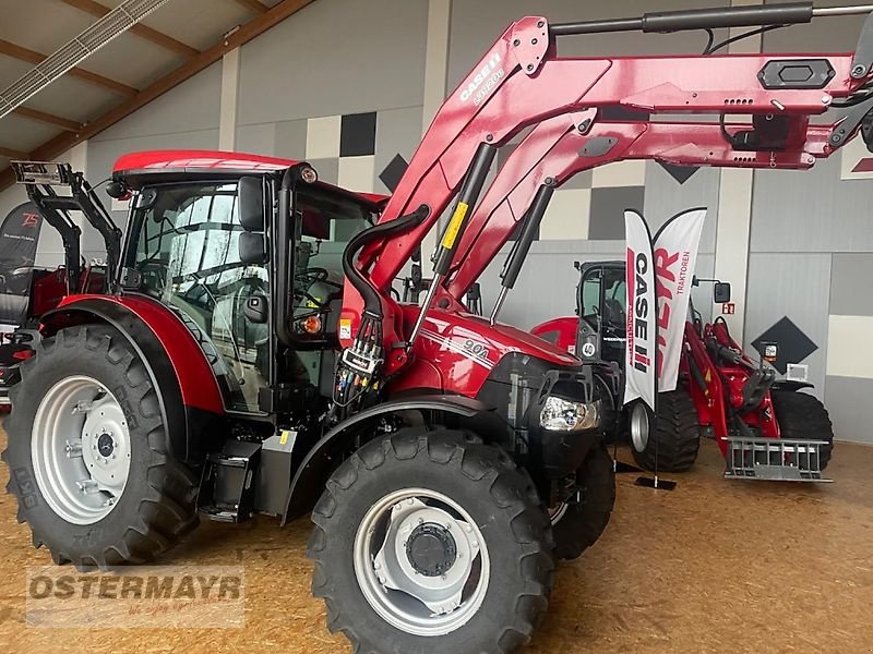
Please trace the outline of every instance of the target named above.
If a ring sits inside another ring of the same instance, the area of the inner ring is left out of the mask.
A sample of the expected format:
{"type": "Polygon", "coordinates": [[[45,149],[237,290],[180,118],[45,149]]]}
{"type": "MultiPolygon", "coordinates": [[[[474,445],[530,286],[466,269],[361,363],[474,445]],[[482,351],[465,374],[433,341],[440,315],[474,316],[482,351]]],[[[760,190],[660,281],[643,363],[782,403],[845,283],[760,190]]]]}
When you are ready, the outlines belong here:
{"type": "Polygon", "coordinates": [[[170,452],[180,461],[202,462],[198,444],[224,414],[224,403],[212,367],[184,325],[145,298],[70,295],[43,315],[40,332],[49,337],[87,323],[111,325],[128,340],[162,393],[164,424],[184,425],[168,429],[170,452]]]}

